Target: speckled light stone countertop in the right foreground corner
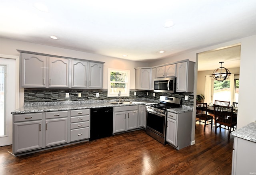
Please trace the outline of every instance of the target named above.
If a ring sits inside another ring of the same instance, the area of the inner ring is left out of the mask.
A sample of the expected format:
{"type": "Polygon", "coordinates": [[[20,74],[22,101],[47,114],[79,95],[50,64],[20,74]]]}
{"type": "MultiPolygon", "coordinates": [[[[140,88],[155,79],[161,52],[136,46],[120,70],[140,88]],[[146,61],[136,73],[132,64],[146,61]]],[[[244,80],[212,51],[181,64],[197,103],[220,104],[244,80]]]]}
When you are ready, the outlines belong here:
{"type": "Polygon", "coordinates": [[[231,133],[233,136],[256,142],[256,122],[252,122],[231,133]]]}

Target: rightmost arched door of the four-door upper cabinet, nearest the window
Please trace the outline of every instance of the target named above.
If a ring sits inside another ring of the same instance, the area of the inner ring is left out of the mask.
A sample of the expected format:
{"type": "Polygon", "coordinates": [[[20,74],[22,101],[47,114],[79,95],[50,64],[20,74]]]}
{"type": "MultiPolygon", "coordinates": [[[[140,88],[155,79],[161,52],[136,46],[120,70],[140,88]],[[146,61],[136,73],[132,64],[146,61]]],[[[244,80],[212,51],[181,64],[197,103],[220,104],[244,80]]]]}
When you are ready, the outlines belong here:
{"type": "Polygon", "coordinates": [[[89,62],[89,88],[103,87],[103,63],[89,62]]]}

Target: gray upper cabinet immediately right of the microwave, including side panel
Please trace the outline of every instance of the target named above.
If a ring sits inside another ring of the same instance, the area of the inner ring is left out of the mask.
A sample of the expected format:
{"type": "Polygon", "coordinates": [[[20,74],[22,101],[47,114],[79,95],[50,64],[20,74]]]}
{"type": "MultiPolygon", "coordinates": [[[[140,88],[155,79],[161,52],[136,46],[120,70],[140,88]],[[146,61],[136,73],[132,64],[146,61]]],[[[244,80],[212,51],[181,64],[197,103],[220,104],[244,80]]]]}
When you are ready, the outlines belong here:
{"type": "Polygon", "coordinates": [[[186,61],[177,64],[176,92],[194,92],[195,63],[186,61]]]}

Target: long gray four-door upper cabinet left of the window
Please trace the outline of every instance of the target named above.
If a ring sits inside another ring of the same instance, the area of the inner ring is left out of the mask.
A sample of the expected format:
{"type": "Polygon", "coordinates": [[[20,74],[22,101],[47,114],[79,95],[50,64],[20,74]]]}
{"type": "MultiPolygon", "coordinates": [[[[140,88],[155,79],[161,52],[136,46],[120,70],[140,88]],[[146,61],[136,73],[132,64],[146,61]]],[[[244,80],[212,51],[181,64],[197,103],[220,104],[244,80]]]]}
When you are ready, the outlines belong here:
{"type": "Polygon", "coordinates": [[[104,62],[20,52],[21,87],[103,88],[104,62]]]}

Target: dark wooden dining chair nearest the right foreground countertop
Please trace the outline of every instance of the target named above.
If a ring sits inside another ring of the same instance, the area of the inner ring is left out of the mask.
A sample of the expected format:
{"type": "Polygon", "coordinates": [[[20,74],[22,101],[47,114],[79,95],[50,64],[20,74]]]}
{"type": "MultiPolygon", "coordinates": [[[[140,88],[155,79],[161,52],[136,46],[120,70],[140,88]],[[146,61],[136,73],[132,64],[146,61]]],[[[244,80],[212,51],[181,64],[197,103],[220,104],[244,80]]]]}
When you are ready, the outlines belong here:
{"type": "Polygon", "coordinates": [[[217,134],[217,128],[220,128],[220,130],[221,128],[228,130],[228,140],[229,140],[231,132],[236,130],[237,118],[233,116],[233,106],[220,106],[220,105],[214,104],[213,107],[214,107],[214,116],[215,116],[215,122],[216,122],[215,134],[217,134]],[[224,128],[222,127],[222,125],[228,126],[228,128],[224,128]]]}

